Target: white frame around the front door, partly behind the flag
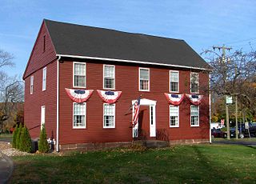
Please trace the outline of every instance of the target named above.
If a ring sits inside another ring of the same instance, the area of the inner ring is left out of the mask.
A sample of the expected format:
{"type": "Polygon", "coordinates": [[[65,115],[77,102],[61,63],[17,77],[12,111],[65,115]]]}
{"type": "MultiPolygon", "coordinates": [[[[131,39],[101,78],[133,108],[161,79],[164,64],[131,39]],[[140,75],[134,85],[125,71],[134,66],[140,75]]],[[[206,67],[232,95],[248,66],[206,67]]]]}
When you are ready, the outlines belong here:
{"type": "MultiPolygon", "coordinates": [[[[134,105],[134,103],[137,100],[133,100],[131,103],[134,105]]],[[[149,106],[150,107],[150,138],[156,137],[156,116],[155,116],[155,106],[157,104],[157,101],[142,98],[140,100],[140,106],[149,106]]],[[[134,117],[134,106],[133,106],[133,117],[134,117]]],[[[139,122],[138,122],[139,123],[139,122]]],[[[138,138],[138,123],[133,127],[132,136],[133,138],[138,138]]]]}

